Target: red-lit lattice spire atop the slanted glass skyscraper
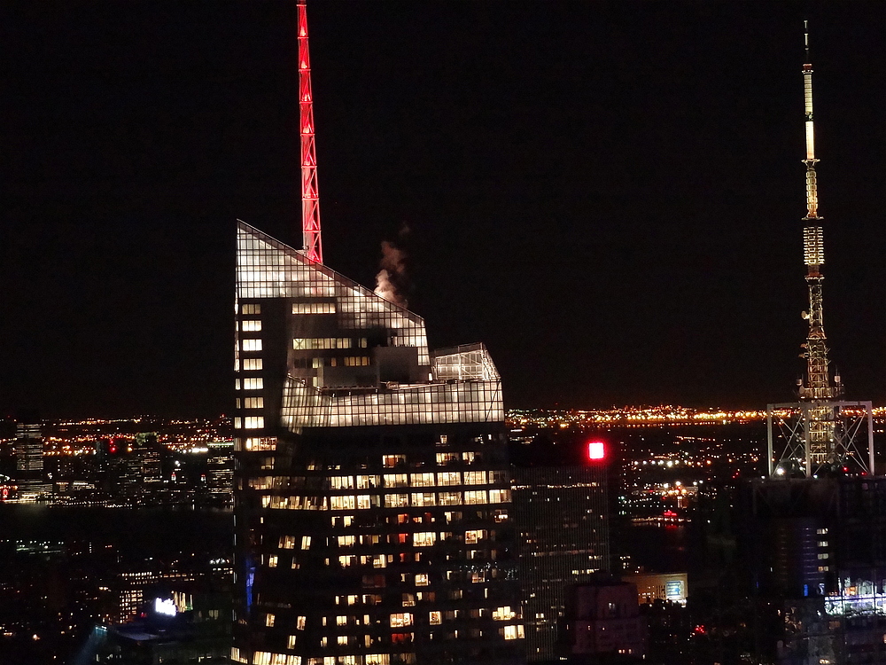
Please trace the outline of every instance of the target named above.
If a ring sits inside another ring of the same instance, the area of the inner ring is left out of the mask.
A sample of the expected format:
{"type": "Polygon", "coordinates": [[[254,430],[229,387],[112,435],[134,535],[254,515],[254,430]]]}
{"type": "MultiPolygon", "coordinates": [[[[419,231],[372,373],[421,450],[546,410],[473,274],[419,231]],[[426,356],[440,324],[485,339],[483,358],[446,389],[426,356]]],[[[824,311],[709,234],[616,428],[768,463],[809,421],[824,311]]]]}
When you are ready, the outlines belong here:
{"type": "Polygon", "coordinates": [[[317,194],[317,153],[314,145],[314,96],[311,58],[307,52],[307,10],[299,0],[299,132],[301,134],[301,231],[304,252],[323,263],[320,241],[320,200],[317,194]]]}

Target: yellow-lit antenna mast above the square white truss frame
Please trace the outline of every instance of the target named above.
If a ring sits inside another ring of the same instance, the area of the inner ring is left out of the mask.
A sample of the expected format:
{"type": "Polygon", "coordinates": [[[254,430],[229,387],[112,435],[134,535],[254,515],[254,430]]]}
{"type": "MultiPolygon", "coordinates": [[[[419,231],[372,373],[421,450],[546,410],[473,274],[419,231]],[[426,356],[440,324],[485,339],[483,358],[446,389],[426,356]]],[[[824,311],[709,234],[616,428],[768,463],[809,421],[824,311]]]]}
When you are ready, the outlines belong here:
{"type": "Polygon", "coordinates": [[[805,64],[803,66],[804,110],[806,117],[806,216],[803,218],[803,258],[806,264],[806,285],[809,287],[809,333],[803,345],[806,378],[800,385],[800,399],[829,400],[843,395],[839,375],[834,384],[828,372],[828,338],[825,336],[824,309],[821,297],[821,266],[825,262],[823,218],[819,216],[819,192],[815,175],[815,131],[812,121],[812,64],[809,57],[809,31],[804,21],[805,64]]]}

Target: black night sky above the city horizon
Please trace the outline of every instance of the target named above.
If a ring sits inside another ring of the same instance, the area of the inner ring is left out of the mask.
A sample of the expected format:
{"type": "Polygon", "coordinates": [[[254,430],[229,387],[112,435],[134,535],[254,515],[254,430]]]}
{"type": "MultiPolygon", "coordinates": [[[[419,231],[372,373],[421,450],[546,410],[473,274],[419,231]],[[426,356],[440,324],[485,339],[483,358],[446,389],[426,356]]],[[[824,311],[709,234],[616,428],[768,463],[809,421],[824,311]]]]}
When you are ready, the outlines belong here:
{"type": "MultiPolygon", "coordinates": [[[[510,408],[789,401],[802,21],[825,322],[886,400],[886,4],[308,4],[325,262],[408,253],[510,408]],[[408,226],[406,236],[400,229],[408,226]]],[[[0,8],[0,415],[232,402],[235,220],[300,246],[295,3],[0,8]]]]}

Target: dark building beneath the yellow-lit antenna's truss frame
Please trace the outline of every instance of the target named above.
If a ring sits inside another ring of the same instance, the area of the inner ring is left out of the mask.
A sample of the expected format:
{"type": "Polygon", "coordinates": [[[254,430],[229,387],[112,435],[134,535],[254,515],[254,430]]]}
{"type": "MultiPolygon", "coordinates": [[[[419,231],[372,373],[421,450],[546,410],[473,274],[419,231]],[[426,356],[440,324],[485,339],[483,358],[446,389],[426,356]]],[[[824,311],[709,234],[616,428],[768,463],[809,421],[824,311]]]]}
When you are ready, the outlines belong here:
{"type": "Polygon", "coordinates": [[[778,662],[886,659],[886,478],[755,481],[743,512],[751,583],[781,608],[778,662]]]}

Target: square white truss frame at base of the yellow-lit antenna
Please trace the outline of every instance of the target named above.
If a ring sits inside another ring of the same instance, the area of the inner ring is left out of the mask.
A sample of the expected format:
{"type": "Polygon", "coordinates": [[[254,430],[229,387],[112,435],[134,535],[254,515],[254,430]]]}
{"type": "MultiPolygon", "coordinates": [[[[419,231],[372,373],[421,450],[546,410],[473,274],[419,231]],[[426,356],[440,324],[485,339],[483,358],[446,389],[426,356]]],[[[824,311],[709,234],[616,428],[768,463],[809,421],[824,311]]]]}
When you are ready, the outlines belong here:
{"type": "Polygon", "coordinates": [[[870,402],[768,404],[766,429],[773,478],[874,473],[870,402]]]}

